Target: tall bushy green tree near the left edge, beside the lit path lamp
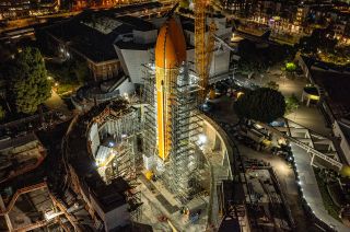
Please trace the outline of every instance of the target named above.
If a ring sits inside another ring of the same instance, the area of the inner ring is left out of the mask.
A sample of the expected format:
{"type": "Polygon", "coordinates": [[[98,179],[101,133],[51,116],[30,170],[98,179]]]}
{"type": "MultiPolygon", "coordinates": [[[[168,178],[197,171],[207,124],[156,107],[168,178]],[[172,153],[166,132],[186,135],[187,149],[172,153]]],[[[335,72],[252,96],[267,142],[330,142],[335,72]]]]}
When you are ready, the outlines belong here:
{"type": "Polygon", "coordinates": [[[19,113],[33,114],[50,96],[50,84],[40,51],[26,47],[11,68],[10,92],[19,113]]]}

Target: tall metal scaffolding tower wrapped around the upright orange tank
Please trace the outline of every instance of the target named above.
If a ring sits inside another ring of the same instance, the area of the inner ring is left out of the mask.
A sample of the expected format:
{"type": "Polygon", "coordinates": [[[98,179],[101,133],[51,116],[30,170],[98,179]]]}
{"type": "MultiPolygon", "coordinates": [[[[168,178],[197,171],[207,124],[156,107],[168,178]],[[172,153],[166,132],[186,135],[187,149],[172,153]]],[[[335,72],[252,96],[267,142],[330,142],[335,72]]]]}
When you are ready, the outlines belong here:
{"type": "Polygon", "coordinates": [[[186,204],[200,189],[198,182],[198,152],[195,140],[201,134],[201,119],[198,117],[197,101],[200,91],[199,80],[189,74],[187,65],[178,68],[177,77],[168,83],[166,138],[168,141],[168,159],[162,160],[158,151],[156,90],[154,66],[144,65],[143,102],[144,114],[144,154],[153,155],[156,161],[154,173],[163,179],[166,188],[176,198],[186,204]]]}

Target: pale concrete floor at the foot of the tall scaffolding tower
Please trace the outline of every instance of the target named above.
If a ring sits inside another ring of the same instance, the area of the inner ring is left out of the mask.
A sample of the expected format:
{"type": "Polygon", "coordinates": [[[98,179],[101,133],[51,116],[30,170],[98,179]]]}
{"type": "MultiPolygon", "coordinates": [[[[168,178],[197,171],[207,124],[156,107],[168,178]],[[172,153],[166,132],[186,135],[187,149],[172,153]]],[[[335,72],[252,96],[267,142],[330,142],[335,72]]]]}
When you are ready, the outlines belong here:
{"type": "Polygon", "coordinates": [[[209,195],[202,193],[186,207],[175,199],[161,181],[141,174],[139,190],[143,202],[141,222],[162,231],[205,231],[208,223],[209,195]]]}

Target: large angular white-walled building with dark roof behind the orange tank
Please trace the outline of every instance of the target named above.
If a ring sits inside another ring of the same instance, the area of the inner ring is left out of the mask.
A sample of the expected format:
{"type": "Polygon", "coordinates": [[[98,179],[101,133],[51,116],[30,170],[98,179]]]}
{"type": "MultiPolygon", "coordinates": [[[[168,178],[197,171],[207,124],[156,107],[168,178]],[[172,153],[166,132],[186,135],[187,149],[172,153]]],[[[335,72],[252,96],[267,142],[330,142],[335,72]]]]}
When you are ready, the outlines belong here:
{"type": "MultiPolygon", "coordinates": [[[[105,14],[96,16],[94,23],[89,19],[88,15],[80,15],[45,30],[50,39],[55,38],[54,40],[58,42],[55,49],[62,59],[78,56],[86,60],[91,68],[96,83],[81,88],[72,97],[79,109],[90,108],[96,103],[110,101],[120,95],[129,96],[135,91],[140,93],[144,83],[144,70],[140,67],[154,62],[158,32],[165,21],[164,18],[143,20],[129,15],[105,14]],[[101,61],[107,57],[108,60],[101,61]]],[[[188,70],[195,73],[194,20],[184,16],[176,16],[176,20],[185,33],[188,70]]],[[[222,42],[229,42],[232,28],[226,25],[226,19],[215,16],[208,23],[211,21],[217,26],[215,35],[222,42]]],[[[210,67],[211,78],[230,72],[230,56],[231,50],[226,46],[220,46],[219,43],[215,45],[210,67]]]]}

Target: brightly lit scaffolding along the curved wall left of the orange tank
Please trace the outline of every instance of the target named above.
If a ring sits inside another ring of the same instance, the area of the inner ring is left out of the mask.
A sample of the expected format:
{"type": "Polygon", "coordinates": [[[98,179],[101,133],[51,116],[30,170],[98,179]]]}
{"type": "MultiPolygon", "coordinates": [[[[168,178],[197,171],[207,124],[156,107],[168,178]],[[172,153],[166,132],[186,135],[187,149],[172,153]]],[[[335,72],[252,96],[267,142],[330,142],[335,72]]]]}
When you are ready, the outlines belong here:
{"type": "Polygon", "coordinates": [[[129,211],[132,221],[140,220],[141,194],[137,190],[138,170],[141,155],[138,150],[138,135],[141,131],[139,111],[121,102],[110,103],[96,117],[98,124],[98,136],[102,140],[110,138],[114,146],[110,148],[112,155],[104,163],[101,173],[106,184],[122,177],[130,186],[126,193],[129,211]]]}

